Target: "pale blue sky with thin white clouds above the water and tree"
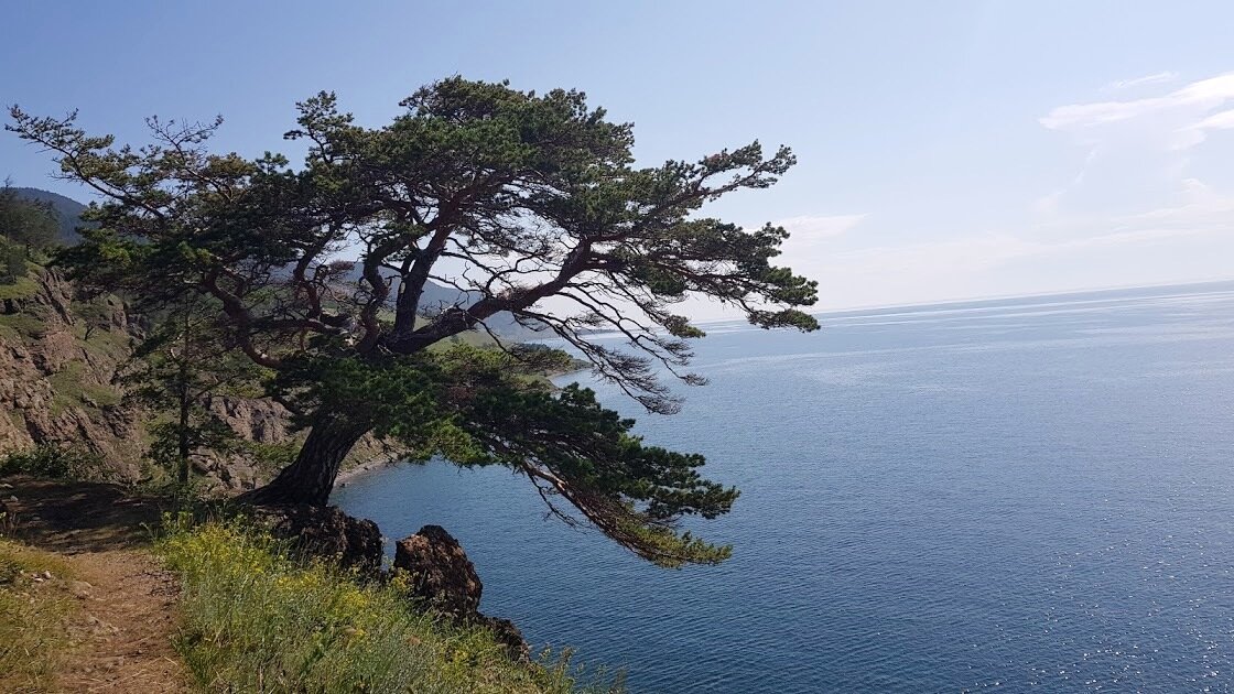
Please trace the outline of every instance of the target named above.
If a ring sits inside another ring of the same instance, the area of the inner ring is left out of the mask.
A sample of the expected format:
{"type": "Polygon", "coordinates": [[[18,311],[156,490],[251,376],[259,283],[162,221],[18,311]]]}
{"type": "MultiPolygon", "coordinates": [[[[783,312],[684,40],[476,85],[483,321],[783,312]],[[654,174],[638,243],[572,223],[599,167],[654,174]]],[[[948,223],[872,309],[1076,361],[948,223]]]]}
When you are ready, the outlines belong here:
{"type": "MultiPolygon", "coordinates": [[[[450,74],[574,86],[648,164],[792,146],[712,212],[785,224],[826,309],[1234,278],[1232,2],[447,5],[10,0],[0,100],[130,142],[222,114],[259,154],[322,89],[380,125],[450,74]]],[[[0,177],[88,199],[51,173],[0,137],[0,177]]]]}

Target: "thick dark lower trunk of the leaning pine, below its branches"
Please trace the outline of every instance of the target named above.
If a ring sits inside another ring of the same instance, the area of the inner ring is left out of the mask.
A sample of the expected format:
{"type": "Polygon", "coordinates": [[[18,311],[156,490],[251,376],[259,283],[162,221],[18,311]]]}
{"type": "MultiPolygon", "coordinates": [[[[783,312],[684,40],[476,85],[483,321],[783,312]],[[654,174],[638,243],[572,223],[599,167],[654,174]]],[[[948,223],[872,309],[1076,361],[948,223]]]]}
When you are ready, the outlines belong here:
{"type": "Polygon", "coordinates": [[[322,415],[313,422],[300,454],[269,484],[244,495],[254,504],[310,504],[325,506],[343,458],[369,431],[339,415],[322,415]]]}

